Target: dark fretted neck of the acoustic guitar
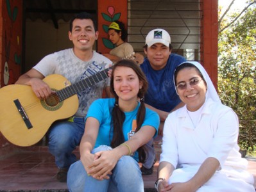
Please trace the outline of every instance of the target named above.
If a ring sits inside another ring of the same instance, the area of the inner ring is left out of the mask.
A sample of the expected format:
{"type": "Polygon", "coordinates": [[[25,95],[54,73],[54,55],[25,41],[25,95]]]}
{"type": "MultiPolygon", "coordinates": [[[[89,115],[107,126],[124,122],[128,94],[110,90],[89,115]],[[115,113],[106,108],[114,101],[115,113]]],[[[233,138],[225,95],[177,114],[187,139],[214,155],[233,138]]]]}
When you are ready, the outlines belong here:
{"type": "Polygon", "coordinates": [[[108,77],[108,70],[110,70],[110,68],[106,68],[105,70],[87,77],[86,79],[63,88],[62,90],[58,90],[56,94],[58,95],[60,102],[106,79],[108,77]]]}

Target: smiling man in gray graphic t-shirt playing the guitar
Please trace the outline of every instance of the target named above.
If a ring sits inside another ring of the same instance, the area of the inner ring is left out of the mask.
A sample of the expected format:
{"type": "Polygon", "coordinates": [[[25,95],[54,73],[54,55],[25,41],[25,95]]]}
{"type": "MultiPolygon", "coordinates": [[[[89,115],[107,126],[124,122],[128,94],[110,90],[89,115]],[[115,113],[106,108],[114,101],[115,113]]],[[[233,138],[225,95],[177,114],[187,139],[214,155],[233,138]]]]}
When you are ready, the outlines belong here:
{"type": "MultiPolygon", "coordinates": [[[[60,74],[68,80],[62,82],[63,86],[69,86],[70,83],[78,83],[104,70],[112,62],[105,58],[105,56],[92,50],[94,42],[98,39],[98,33],[92,16],[86,12],[78,13],[70,22],[69,39],[73,42],[73,48],[47,55],[35,67],[19,77],[16,84],[30,85],[38,99],[47,100],[51,95],[55,95],[56,92],[49,86],[49,83],[42,81],[45,77],[51,74],[60,74]]],[[[58,79],[56,77],[56,79],[52,80],[57,81],[58,79]]],[[[103,81],[99,81],[98,78],[96,80],[92,79],[89,82],[90,86],[85,88],[85,90],[80,88],[80,86],[83,86],[83,83],[76,84],[76,87],[80,90],[77,94],[79,105],[76,104],[77,99],[75,99],[70,108],[67,107],[62,111],[63,114],[74,107],[74,116],[69,118],[69,120],[55,122],[49,128],[49,132],[47,132],[49,136],[49,152],[55,156],[56,166],[60,168],[57,174],[57,179],[60,182],[66,182],[69,166],[77,160],[72,152],[79,145],[81,136],[83,136],[85,128],[84,116],[87,115],[90,104],[101,97],[104,89],[107,95],[109,95],[107,76],[105,79],[100,79],[103,81]]],[[[55,82],[52,83],[54,84],[55,82]]],[[[65,95],[65,92],[63,94],[65,95]]],[[[55,96],[59,97],[60,95],[56,94],[55,96]]],[[[73,97],[77,98],[76,95],[73,97]]],[[[57,102],[58,100],[62,99],[58,98],[57,102]]],[[[46,105],[48,103],[51,103],[51,101],[46,102],[46,105]]],[[[53,104],[54,106],[55,104],[53,104]]],[[[44,120],[47,120],[47,117],[43,115],[38,116],[38,120],[41,120],[43,123],[44,120]]]]}

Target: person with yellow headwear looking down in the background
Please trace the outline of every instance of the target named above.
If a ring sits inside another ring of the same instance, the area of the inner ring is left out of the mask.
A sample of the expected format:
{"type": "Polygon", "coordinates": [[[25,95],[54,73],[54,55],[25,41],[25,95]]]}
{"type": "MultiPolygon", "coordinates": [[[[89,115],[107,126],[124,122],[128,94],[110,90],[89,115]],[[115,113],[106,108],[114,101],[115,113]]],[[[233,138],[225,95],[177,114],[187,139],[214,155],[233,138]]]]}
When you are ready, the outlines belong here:
{"type": "Polygon", "coordinates": [[[120,59],[130,58],[133,55],[132,45],[125,42],[128,33],[124,28],[124,24],[121,21],[116,20],[108,26],[108,36],[115,48],[112,49],[109,54],[103,54],[105,57],[113,62],[120,59]]]}

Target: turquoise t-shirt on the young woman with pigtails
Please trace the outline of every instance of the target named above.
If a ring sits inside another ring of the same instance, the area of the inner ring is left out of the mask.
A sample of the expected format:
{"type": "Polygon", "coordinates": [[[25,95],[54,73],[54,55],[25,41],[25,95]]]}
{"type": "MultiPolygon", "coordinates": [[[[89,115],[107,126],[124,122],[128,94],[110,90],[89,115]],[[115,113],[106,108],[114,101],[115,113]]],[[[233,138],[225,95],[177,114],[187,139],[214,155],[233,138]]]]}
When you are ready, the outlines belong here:
{"type": "MultiPolygon", "coordinates": [[[[110,146],[113,138],[113,129],[111,129],[112,109],[114,108],[115,99],[97,99],[90,105],[86,119],[88,117],[94,117],[99,121],[99,132],[94,148],[100,145],[110,146]]],[[[125,120],[123,124],[124,140],[129,140],[135,133],[137,127],[136,116],[140,103],[133,111],[125,112],[125,120]]],[[[155,111],[146,108],[146,115],[142,126],[150,125],[155,127],[157,136],[158,127],[160,124],[160,118],[155,111]]],[[[139,161],[137,153],[133,156],[134,159],[139,161]]]]}

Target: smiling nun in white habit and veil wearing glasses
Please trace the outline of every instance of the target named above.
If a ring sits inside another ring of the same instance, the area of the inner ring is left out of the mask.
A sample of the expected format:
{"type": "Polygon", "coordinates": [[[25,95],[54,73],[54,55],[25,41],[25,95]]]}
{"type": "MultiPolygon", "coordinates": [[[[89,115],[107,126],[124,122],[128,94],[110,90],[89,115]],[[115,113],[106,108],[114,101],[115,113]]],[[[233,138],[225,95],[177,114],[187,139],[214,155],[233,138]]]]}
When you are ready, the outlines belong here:
{"type": "Polygon", "coordinates": [[[185,106],[164,124],[158,191],[255,192],[237,145],[237,115],[221,104],[205,69],[187,61],[176,68],[174,81],[185,106]]]}

